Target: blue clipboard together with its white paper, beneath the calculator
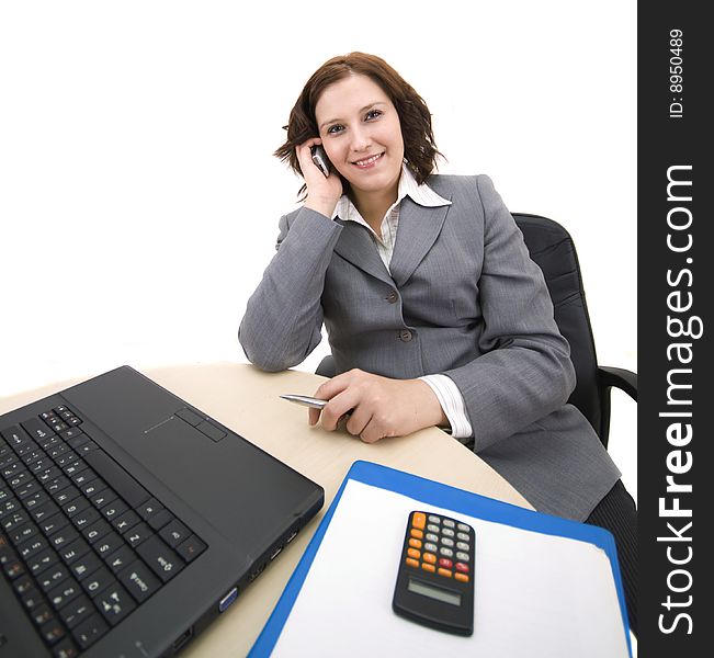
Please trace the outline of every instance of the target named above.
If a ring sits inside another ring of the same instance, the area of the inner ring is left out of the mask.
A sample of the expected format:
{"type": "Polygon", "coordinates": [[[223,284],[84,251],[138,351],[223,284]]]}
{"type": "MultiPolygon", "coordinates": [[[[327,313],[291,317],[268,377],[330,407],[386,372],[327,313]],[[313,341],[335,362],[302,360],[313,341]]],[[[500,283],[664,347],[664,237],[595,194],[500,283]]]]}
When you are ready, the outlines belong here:
{"type": "Polygon", "coordinates": [[[249,654],[295,655],[627,658],[613,536],[355,462],[249,654]],[[475,531],[469,637],[420,625],[392,609],[413,510],[475,531]]]}

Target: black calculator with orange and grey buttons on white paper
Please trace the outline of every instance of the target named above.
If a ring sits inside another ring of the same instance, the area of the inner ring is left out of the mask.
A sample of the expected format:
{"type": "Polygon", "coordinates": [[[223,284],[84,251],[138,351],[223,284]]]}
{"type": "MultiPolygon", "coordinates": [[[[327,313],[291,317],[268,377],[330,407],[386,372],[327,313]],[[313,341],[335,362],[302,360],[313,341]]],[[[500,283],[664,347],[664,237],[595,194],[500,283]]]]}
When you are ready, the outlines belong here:
{"type": "Polygon", "coordinates": [[[474,529],[456,519],[409,514],[392,609],[424,626],[474,633],[474,529]]]}

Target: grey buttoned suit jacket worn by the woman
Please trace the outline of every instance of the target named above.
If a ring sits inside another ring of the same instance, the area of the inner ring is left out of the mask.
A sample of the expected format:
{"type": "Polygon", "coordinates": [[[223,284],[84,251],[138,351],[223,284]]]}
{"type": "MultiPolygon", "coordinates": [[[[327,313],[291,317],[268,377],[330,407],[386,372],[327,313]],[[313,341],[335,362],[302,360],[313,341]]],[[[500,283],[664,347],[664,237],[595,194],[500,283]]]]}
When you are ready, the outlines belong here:
{"type": "Polygon", "coordinates": [[[239,329],[246,355],[292,367],[325,322],[338,373],[445,374],[479,457],[537,510],[585,520],[620,473],[566,405],[575,374],[542,272],[488,177],[428,183],[452,205],[405,197],[392,273],[363,226],[304,207],[282,217],[239,329]]]}

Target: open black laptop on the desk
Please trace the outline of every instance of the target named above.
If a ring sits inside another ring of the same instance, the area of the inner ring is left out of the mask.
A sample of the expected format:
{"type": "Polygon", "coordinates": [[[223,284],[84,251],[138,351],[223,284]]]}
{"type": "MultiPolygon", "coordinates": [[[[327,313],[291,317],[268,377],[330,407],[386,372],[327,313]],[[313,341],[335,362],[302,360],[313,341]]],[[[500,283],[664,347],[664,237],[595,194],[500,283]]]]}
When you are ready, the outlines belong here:
{"type": "Polygon", "coordinates": [[[324,497],[128,366],[0,416],[0,658],[170,656],[324,497]]]}

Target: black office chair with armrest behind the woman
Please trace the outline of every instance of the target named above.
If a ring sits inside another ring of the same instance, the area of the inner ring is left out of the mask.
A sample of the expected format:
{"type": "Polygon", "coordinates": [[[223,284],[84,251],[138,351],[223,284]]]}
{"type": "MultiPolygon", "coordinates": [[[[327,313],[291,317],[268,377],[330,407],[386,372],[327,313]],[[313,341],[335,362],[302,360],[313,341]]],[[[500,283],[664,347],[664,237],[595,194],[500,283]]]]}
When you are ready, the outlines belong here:
{"type": "MultiPolygon", "coordinates": [[[[543,270],[555,308],[555,321],[570,343],[577,384],[568,401],[588,419],[607,449],[611,390],[613,387],[624,390],[637,401],[637,375],[628,370],[598,365],[580,265],[568,231],[557,222],[539,215],[513,213],[513,218],[531,258],[543,270]]],[[[316,372],[326,377],[335,376],[332,356],[322,359],[316,372]]]]}

